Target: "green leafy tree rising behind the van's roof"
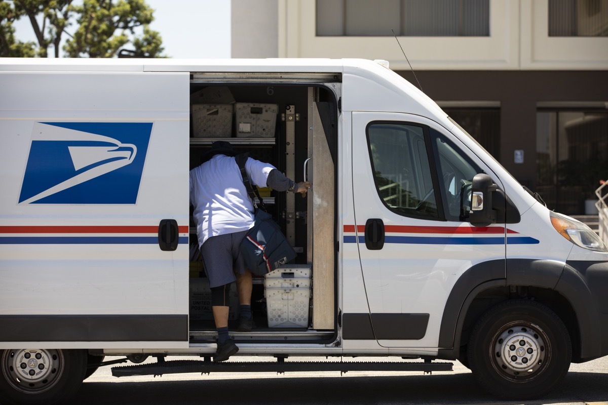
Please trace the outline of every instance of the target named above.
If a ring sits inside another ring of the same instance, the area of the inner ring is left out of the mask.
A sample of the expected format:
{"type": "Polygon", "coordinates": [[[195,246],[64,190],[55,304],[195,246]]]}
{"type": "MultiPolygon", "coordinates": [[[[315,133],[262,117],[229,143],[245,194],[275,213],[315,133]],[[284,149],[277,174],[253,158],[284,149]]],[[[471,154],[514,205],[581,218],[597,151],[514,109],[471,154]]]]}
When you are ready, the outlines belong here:
{"type": "MultiPolygon", "coordinates": [[[[134,47],[131,52],[136,56],[162,56],[161,36],[148,27],[154,17],[145,0],[82,0],[74,3],[74,0],[0,0],[0,13],[2,6],[9,5],[7,15],[12,16],[12,21],[21,16],[29,18],[38,41],[36,56],[48,56],[52,46],[58,58],[63,34],[69,36],[63,46],[65,56],[72,58],[112,58],[128,44],[134,47]],[[77,28],[69,32],[68,28],[74,23],[77,28]],[[138,34],[138,31],[142,33],[138,34]]],[[[2,16],[0,14],[0,18],[2,16]]],[[[27,49],[27,43],[15,40],[14,29],[10,32],[11,29],[12,25],[5,29],[3,24],[0,45],[6,42],[13,44],[13,48],[27,49]],[[10,35],[5,35],[5,31],[10,35]]],[[[15,53],[0,49],[0,56],[19,56],[15,53]]]]}

